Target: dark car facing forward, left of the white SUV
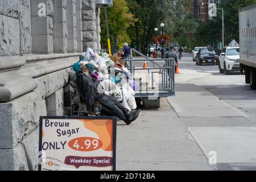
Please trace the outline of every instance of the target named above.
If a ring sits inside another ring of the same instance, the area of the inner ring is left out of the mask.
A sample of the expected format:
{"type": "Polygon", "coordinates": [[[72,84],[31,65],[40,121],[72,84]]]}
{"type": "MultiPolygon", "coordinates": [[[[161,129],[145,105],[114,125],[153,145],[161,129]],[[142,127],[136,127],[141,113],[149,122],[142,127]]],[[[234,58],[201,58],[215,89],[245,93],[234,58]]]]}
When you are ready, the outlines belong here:
{"type": "Polygon", "coordinates": [[[218,55],[213,49],[200,48],[196,55],[196,65],[218,64],[218,55]]]}

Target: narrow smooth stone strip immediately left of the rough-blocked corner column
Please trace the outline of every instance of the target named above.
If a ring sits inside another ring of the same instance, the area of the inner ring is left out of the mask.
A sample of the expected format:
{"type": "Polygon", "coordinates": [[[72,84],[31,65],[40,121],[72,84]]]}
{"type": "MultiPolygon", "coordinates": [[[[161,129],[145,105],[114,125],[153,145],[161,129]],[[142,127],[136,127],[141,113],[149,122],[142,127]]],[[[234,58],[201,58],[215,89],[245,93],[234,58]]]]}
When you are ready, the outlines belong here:
{"type": "Polygon", "coordinates": [[[76,0],[76,32],[77,52],[82,52],[82,2],[76,0]]]}

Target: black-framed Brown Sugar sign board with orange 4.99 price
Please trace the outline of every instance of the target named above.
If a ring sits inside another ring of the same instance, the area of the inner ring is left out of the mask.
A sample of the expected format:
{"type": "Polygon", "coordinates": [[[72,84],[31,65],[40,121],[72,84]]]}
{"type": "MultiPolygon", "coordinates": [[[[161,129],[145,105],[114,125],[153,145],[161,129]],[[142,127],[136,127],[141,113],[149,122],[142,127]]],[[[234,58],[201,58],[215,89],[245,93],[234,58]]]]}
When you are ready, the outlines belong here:
{"type": "Polygon", "coordinates": [[[40,117],[40,171],[114,171],[113,117],[40,117]]]}

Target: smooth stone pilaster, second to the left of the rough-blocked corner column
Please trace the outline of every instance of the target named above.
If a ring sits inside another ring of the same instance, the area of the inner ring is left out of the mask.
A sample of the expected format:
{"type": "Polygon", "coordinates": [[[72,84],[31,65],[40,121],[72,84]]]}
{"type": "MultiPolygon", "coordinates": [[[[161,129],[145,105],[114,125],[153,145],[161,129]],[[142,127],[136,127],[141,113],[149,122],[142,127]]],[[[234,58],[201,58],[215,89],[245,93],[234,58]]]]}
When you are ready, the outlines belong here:
{"type": "Polygon", "coordinates": [[[76,0],[67,0],[68,52],[77,51],[76,0]]]}

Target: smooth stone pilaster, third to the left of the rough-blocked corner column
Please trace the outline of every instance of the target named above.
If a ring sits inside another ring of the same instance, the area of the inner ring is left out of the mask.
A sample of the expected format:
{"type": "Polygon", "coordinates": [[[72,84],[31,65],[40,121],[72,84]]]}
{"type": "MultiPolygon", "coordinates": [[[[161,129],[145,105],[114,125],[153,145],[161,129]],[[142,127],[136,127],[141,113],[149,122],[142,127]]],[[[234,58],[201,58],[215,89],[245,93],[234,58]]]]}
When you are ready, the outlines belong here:
{"type": "Polygon", "coordinates": [[[53,51],[55,53],[68,52],[68,28],[66,18],[67,0],[54,1],[53,17],[53,51]]]}

